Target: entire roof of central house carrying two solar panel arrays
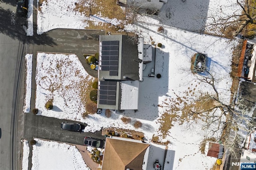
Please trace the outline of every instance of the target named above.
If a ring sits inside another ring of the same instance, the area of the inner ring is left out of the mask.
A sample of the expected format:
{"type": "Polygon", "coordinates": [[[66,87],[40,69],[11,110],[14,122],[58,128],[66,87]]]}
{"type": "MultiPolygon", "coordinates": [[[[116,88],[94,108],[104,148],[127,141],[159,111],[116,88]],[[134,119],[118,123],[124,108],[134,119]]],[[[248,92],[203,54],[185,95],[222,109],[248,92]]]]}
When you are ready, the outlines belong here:
{"type": "Polygon", "coordinates": [[[132,85],[137,93],[131,96],[126,91],[131,86],[124,81],[142,80],[142,59],[143,38],[136,41],[124,35],[100,36],[98,108],[120,110],[121,101],[127,103],[128,95],[133,102],[125,109],[138,109],[138,84],[132,85]]]}

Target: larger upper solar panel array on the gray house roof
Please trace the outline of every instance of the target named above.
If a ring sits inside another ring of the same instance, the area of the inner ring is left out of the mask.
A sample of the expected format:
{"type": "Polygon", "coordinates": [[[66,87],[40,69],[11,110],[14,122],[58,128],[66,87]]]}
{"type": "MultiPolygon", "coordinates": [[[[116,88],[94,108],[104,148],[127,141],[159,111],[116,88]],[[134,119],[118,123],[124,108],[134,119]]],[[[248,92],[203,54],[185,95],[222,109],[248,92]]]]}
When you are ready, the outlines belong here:
{"type": "Polygon", "coordinates": [[[110,76],[118,75],[119,41],[101,42],[101,70],[110,76]]]}

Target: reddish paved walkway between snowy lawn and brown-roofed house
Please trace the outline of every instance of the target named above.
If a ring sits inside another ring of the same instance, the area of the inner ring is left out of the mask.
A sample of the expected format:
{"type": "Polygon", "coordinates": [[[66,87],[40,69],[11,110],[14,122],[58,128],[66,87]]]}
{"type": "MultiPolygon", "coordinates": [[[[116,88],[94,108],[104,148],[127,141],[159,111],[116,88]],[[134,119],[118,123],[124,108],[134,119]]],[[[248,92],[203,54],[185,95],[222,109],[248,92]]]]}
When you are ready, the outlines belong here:
{"type": "Polygon", "coordinates": [[[80,151],[80,153],[81,153],[81,155],[82,155],[82,157],[83,157],[84,162],[86,163],[86,165],[89,166],[89,168],[91,168],[91,170],[98,170],[99,164],[95,163],[95,162],[91,159],[91,157],[90,157],[88,151],[86,150],[86,146],[77,145],[77,144],[76,144],[76,147],[77,147],[78,150],[80,151]]]}

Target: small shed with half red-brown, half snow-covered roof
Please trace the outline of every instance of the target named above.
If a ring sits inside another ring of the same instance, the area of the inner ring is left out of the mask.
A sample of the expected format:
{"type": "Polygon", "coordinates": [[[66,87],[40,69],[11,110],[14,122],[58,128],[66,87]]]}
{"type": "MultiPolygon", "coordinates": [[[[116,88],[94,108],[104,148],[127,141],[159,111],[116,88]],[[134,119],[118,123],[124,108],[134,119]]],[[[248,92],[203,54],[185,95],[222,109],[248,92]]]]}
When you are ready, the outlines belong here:
{"type": "Polygon", "coordinates": [[[223,155],[223,145],[215,142],[207,142],[205,145],[204,152],[206,156],[221,158],[223,155]]]}

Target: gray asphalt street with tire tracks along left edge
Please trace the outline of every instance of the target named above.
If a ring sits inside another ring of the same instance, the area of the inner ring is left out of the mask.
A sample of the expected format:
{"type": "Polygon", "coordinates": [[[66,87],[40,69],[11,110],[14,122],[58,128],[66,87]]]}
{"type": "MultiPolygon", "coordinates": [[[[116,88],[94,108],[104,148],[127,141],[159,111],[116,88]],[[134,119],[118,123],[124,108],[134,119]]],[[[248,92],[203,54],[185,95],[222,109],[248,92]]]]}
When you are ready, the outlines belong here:
{"type": "Polygon", "coordinates": [[[16,16],[16,1],[0,1],[0,170],[18,169],[23,124],[26,36],[16,16]]]}

